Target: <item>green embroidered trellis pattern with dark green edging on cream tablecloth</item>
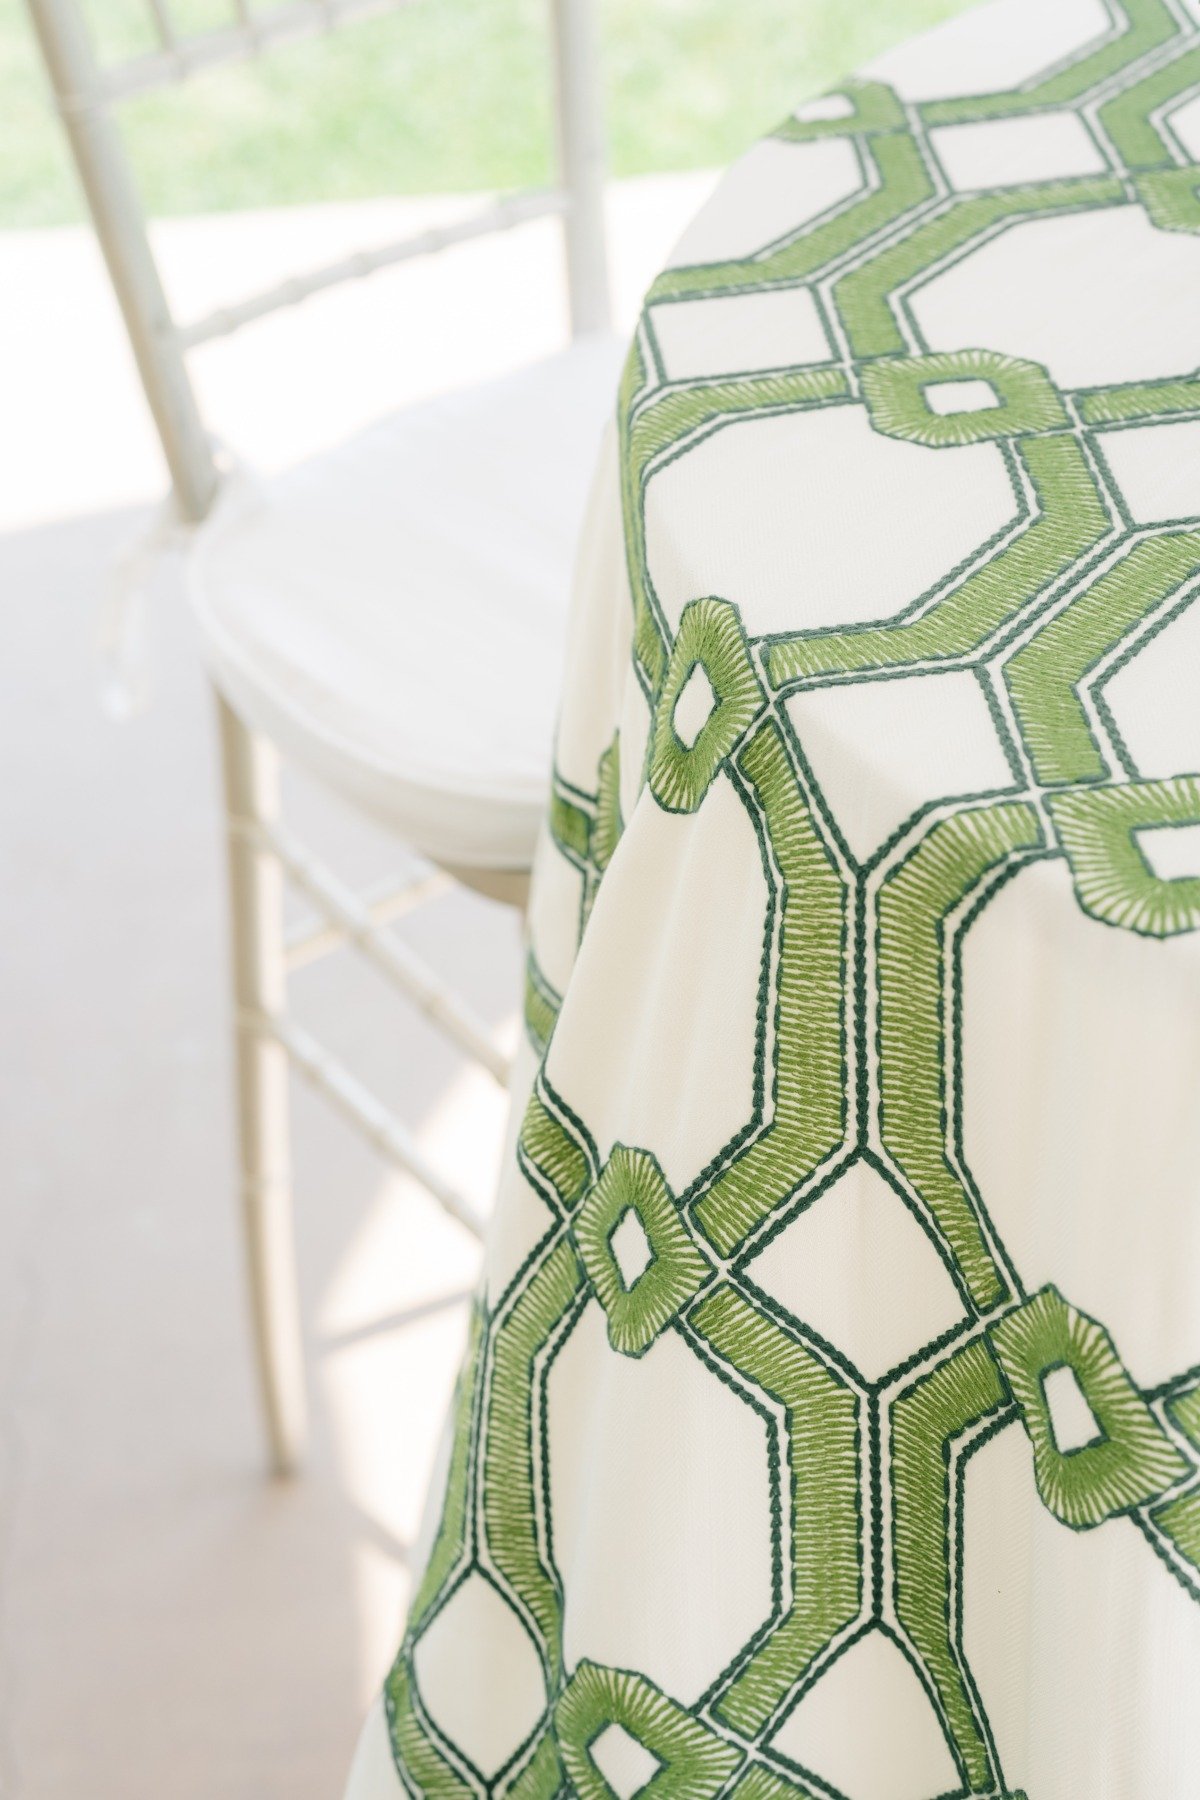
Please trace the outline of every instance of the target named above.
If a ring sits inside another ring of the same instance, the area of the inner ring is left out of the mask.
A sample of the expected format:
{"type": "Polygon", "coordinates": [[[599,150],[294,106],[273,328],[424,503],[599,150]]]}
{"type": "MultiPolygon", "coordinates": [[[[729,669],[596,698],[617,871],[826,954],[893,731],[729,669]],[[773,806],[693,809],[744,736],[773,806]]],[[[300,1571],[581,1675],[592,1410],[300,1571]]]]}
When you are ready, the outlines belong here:
{"type": "MultiPolygon", "coordinates": [[[[963,1636],[966,1471],[1000,1433],[1022,1435],[1056,1528],[1133,1521],[1155,1552],[1146,1579],[1178,1582],[1200,1606],[1200,1368],[1139,1386],[1103,1319],[1016,1265],[963,1141],[963,952],[1013,878],[1056,868],[1088,929],[1139,934],[1162,956],[1187,954],[1200,931],[1200,866],[1162,875],[1146,848],[1146,833],[1200,826],[1200,772],[1139,767],[1110,698],[1200,596],[1200,481],[1193,515],[1139,522],[1105,454],[1106,434],[1200,419],[1200,340],[1182,367],[1079,387],[1052,356],[932,344],[921,326],[936,281],[1033,225],[1135,216],[1155,234],[1196,236],[1200,252],[1200,27],[1175,0],[1110,0],[1108,13],[1105,34],[1011,88],[912,101],[885,81],[847,83],[774,144],[846,153],[858,187],[750,254],[667,268],[648,295],[619,398],[630,680],[648,725],[640,738],[610,727],[590,783],[578,769],[556,776],[549,833],[581,875],[587,940],[631,814],[657,808],[685,828],[714,781],[732,783],[770,891],[754,1111],[689,1184],[667,1179],[655,1147],[601,1136],[556,1087],[554,1033],[588,1024],[572,1024],[570,986],[554,992],[534,941],[527,1030],[542,1067],[516,1157],[543,1224],[477,1307],[441,1523],[387,1683],[412,1795],[613,1800],[615,1733],[639,1750],[646,1800],[838,1800],[781,1748],[784,1728],[840,1656],[882,1633],[936,1715],[955,1793],[1011,1800],[963,1636]],[[1052,144],[1078,146],[1076,166],[1049,157],[1031,178],[1047,115],[1052,144]],[[954,185],[948,146],[968,142],[954,131],[975,133],[986,180],[954,185]],[[1025,162],[1006,182],[1018,142],[1025,162]],[[750,373],[716,360],[709,376],[673,378],[671,308],[721,302],[725,342],[738,306],[750,320],[765,293],[804,297],[828,337],[822,360],[747,358],[750,373]],[[655,580],[653,482],[721,434],[750,446],[766,421],[819,432],[835,414],[892,441],[923,482],[939,470],[950,481],[955,457],[1000,459],[1011,518],[878,617],[815,617],[802,565],[793,619],[768,630],[703,585],[671,612],[655,580]],[[712,706],[684,731],[696,670],[712,706]],[[1009,781],[959,792],[950,751],[945,779],[855,857],[788,702],[945,671],[979,684],[1009,781]],[[907,1210],[963,1303],[961,1325],[876,1381],[752,1269],[858,1163],[907,1210]],[[615,1238],[630,1219],[644,1256],[622,1273],[615,1238]],[[700,1697],[565,1638],[572,1577],[547,1471],[547,1384],[588,1307],[603,1310],[613,1355],[649,1364],[669,1334],[768,1426],[770,1615],[700,1697]],[[1081,1445],[1060,1442],[1056,1372],[1090,1409],[1081,1445]],[[536,1724],[488,1773],[417,1679],[423,1634],[471,1575],[504,1598],[545,1681],[536,1724]]],[[[664,1082],[664,1109],[678,1103],[664,1082]]]]}

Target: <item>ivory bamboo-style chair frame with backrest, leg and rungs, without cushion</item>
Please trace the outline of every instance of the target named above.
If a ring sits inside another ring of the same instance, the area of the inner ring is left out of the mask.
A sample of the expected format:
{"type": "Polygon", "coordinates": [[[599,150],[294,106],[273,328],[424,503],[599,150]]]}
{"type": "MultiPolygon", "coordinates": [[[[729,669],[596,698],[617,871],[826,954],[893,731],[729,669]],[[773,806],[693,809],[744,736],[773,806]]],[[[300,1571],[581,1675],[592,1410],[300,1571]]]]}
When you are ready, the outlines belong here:
{"type": "MultiPolygon", "coordinates": [[[[146,214],[113,108],[137,94],[246,61],[288,40],[335,31],[421,0],[230,0],[225,29],[187,34],[171,0],[146,0],[157,47],[101,67],[79,0],[27,0],[95,234],[121,304],[162,450],[175,506],[189,526],[212,509],[221,470],[201,419],[187,353],[342,281],[430,256],[470,238],[547,214],[563,225],[572,337],[610,326],[603,216],[604,131],[592,0],[547,0],[552,36],[558,184],[498,198],[462,220],[308,270],[261,293],[180,322],[155,263],[146,214]]],[[[412,1175],[468,1231],[475,1208],[430,1165],[403,1121],[318,1044],[288,1010],[288,974],[353,945],[466,1057],[498,1082],[507,1058],[488,1028],[385,927],[453,880],[520,902],[527,871],[432,869],[371,895],[347,887],[281,819],[275,745],[216,693],[228,857],[234,1067],[241,1224],[255,1366],[273,1472],[299,1469],[306,1444],[306,1379],[295,1271],[288,1071],[295,1069],[394,1166],[412,1175]],[[284,936],[284,886],[313,920],[284,936]]]]}

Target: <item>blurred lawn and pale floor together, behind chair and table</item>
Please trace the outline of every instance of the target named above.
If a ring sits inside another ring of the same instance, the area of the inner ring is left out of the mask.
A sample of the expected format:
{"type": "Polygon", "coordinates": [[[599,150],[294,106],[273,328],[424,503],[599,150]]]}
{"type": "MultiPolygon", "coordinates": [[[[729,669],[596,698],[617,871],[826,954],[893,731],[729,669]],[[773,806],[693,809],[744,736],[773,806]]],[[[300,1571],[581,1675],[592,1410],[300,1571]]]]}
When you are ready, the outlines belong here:
{"type": "MultiPolygon", "coordinates": [[[[963,0],[606,0],[617,319],[720,169],[963,0]]],[[[187,29],[225,0],[176,0],[187,29]]],[[[104,56],[146,7],[95,0],[104,56]]],[[[545,180],[542,0],[426,0],[124,110],[189,315],[545,180]]],[[[563,337],[542,220],[405,265],[193,362],[261,470],[563,337]]],[[[295,1096],[313,1444],[263,1472],[234,1208],[210,702],[171,556],[149,706],[104,711],[106,574],[166,490],[22,0],[0,0],[0,1793],[329,1800],[394,1649],[479,1249],[295,1096]]],[[[396,846],[299,781],[369,884],[396,846]]],[[[453,891],[405,938],[516,1040],[518,918],[453,891]]],[[[502,1096],[349,956],[297,1008],[479,1206],[502,1096]]]]}

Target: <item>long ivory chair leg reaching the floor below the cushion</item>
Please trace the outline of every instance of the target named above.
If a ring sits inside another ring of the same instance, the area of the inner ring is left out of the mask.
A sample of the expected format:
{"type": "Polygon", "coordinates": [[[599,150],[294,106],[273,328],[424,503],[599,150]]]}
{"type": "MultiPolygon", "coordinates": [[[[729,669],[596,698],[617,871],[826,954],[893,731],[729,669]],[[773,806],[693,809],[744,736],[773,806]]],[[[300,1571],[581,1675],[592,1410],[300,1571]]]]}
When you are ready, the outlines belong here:
{"type": "Polygon", "coordinates": [[[288,1058],[263,1030],[282,1013],[286,963],[282,871],[255,826],[279,808],[279,761],[218,695],[228,824],[230,950],[241,1219],[254,1348],[272,1469],[291,1474],[304,1451],[304,1352],[295,1274],[288,1148],[288,1058]]]}

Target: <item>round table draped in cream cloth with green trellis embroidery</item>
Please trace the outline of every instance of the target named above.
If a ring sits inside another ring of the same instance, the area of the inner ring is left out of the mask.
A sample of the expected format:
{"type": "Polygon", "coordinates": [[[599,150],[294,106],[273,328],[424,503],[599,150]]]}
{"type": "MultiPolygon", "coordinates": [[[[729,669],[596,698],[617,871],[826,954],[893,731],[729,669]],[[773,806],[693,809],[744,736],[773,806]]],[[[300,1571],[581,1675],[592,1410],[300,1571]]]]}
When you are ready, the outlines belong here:
{"type": "Polygon", "coordinates": [[[889,54],[649,290],[351,1800],[1200,1795],[1189,4],[889,54]]]}

